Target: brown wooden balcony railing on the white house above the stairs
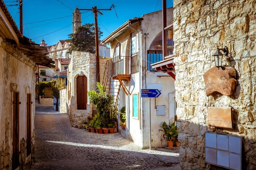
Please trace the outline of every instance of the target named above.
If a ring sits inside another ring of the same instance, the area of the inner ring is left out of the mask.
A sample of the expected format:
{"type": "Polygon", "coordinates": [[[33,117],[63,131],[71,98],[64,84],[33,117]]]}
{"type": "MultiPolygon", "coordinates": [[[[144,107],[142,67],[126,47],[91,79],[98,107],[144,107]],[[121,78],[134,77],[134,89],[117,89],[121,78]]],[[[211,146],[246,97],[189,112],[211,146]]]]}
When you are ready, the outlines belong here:
{"type": "Polygon", "coordinates": [[[108,77],[137,73],[139,72],[139,55],[113,57],[107,61],[106,69],[108,77]]]}

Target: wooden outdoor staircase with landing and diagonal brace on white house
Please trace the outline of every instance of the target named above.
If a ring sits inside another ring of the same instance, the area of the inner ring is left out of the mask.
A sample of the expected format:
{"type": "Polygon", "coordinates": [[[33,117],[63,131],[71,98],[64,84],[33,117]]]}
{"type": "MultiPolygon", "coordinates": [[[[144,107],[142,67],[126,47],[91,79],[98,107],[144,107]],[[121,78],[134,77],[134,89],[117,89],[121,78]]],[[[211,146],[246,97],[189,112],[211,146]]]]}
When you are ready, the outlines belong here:
{"type": "MultiPolygon", "coordinates": [[[[130,91],[125,87],[123,81],[127,81],[131,79],[131,74],[118,74],[119,72],[119,62],[123,61],[117,61],[113,62],[113,59],[109,59],[106,63],[103,79],[102,79],[102,85],[105,87],[105,93],[108,95],[113,96],[114,98],[114,106],[117,108],[119,105],[119,93],[120,89],[124,90],[125,94],[128,95],[130,91]]],[[[125,66],[126,68],[127,66],[125,66]]],[[[122,73],[126,73],[125,71],[122,71],[122,73]]]]}

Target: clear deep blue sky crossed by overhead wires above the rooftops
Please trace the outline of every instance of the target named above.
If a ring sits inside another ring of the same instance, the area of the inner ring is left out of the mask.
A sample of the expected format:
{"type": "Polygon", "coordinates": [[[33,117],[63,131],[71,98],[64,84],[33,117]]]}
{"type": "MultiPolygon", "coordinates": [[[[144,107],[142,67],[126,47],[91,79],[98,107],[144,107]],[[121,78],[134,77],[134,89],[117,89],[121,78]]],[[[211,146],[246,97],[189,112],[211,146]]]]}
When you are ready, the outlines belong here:
{"type": "MultiPolygon", "coordinates": [[[[6,5],[17,4],[13,3],[16,0],[4,0],[6,5]]],[[[114,31],[116,28],[125,23],[128,19],[134,17],[141,17],[143,14],[162,9],[162,0],[59,0],[66,6],[62,5],[58,0],[23,0],[23,34],[26,37],[32,38],[36,43],[40,43],[42,39],[48,45],[53,45],[58,40],[66,40],[68,34],[72,33],[72,17],[60,18],[50,20],[58,17],[65,17],[72,15],[73,10],[78,8],[110,8],[112,4],[116,7],[115,11],[102,11],[103,15],[99,16],[99,27],[103,32],[101,40],[109,35],[109,32],[114,31]],[[157,5],[158,3],[158,5],[157,5]],[[71,9],[70,9],[71,8],[71,9]],[[40,23],[33,23],[42,20],[48,20],[40,23]],[[32,23],[32,24],[26,24],[32,23]],[[70,25],[70,26],[69,26],[70,25]],[[105,28],[103,26],[105,26],[105,28]],[[66,27],[66,28],[64,28],[66,27]],[[63,29],[61,29],[63,28],[63,29]],[[59,31],[56,31],[61,29],[59,31]],[[49,34],[56,31],[52,34],[49,34]],[[49,34],[49,35],[45,35],[49,34]],[[43,37],[41,37],[43,36],[43,37]],[[37,38],[39,37],[39,38],[37,38]]],[[[167,0],[167,7],[173,6],[172,0],[167,0]]],[[[7,6],[9,12],[12,14],[13,19],[19,25],[19,13],[17,13],[18,6],[7,6]],[[16,16],[16,17],[15,17],[16,16]]],[[[85,12],[85,11],[81,11],[85,12]]],[[[94,23],[94,17],[91,11],[81,14],[83,23],[94,23]]],[[[18,26],[19,27],[19,26],[18,26]]]]}

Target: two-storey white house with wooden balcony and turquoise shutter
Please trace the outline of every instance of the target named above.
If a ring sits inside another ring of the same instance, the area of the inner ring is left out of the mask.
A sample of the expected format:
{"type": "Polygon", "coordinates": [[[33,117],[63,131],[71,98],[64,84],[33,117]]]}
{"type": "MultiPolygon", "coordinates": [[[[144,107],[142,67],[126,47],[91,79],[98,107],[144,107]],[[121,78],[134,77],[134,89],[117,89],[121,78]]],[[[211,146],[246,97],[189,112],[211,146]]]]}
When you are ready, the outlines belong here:
{"type": "MultiPolygon", "coordinates": [[[[173,8],[168,8],[167,13],[170,25],[173,8]]],[[[148,147],[150,139],[152,147],[165,145],[158,130],[164,121],[175,121],[175,79],[151,67],[163,60],[162,42],[162,11],[128,20],[102,40],[103,44],[110,43],[112,58],[107,63],[111,87],[106,85],[110,89],[106,91],[115,95],[119,110],[126,106],[127,128],[120,130],[121,134],[140,147],[148,147]],[[149,99],[141,98],[141,89],[145,88],[157,88],[162,93],[151,99],[151,138],[149,99]]]]}

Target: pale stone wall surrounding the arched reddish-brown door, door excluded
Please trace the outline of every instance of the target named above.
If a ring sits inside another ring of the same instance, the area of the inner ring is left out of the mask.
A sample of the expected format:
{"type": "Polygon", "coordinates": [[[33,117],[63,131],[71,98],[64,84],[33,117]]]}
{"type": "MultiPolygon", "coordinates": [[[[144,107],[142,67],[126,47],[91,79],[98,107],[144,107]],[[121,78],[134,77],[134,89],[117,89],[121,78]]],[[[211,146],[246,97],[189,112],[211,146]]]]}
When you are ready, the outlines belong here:
{"type": "MultiPolygon", "coordinates": [[[[105,64],[108,57],[100,57],[100,78],[103,78],[105,64]]],[[[82,128],[87,117],[92,116],[93,105],[87,96],[87,110],[77,110],[76,78],[80,75],[87,77],[87,91],[96,89],[96,57],[95,54],[75,51],[69,65],[68,72],[68,113],[72,126],[82,128]]]]}

